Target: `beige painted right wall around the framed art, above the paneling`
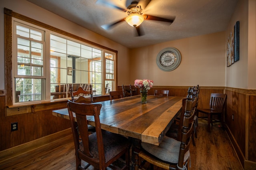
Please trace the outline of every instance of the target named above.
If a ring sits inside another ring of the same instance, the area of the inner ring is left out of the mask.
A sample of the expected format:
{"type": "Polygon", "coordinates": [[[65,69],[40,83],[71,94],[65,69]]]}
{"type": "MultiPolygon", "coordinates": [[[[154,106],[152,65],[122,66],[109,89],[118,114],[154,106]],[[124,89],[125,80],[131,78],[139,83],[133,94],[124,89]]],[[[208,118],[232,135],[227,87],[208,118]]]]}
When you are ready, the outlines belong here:
{"type": "Polygon", "coordinates": [[[226,37],[240,21],[240,59],[226,67],[226,87],[256,89],[256,1],[240,0],[232,15],[226,37]]]}

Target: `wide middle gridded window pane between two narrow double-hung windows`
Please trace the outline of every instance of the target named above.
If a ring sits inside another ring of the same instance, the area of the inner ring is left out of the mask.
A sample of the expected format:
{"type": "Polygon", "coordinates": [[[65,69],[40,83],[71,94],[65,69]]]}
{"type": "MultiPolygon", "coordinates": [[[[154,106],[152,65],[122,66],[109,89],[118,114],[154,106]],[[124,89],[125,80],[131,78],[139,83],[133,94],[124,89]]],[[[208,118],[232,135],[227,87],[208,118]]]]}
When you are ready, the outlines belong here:
{"type": "Polygon", "coordinates": [[[104,94],[102,49],[50,34],[50,57],[51,99],[69,95],[65,92],[70,84],[73,90],[78,86],[86,88],[86,85],[92,84],[94,95],[104,94]]]}

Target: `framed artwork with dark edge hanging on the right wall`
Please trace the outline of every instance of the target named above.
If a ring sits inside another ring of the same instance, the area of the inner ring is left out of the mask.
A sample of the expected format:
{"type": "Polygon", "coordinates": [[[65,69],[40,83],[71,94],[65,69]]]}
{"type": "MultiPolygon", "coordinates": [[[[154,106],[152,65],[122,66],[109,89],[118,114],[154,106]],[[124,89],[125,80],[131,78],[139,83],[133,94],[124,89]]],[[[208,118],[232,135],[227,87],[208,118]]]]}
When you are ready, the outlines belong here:
{"type": "Polygon", "coordinates": [[[239,21],[236,22],[227,40],[227,67],[239,60],[239,21]]]}

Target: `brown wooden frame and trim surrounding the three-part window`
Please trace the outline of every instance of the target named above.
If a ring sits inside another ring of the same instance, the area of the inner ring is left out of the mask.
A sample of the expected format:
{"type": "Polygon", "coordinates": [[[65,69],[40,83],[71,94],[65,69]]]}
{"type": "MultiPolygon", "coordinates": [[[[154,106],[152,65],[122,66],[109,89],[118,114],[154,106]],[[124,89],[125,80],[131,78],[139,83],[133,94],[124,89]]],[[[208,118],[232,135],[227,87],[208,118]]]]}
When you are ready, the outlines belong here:
{"type": "MultiPolygon", "coordinates": [[[[110,51],[111,53],[114,53],[115,54],[115,67],[116,67],[116,74],[115,74],[115,87],[117,87],[117,55],[118,55],[118,51],[114,50],[114,49],[111,49],[111,48],[108,48],[108,47],[105,47],[103,45],[100,45],[98,43],[95,43],[95,42],[91,42],[89,40],[86,40],[84,38],[81,38],[79,36],[76,36],[74,34],[71,34],[69,32],[65,32],[63,30],[60,30],[58,28],[55,28],[53,26],[50,26],[48,24],[44,24],[42,22],[39,22],[37,20],[34,20],[32,18],[29,18],[29,17],[26,17],[26,16],[23,16],[21,14],[18,14],[16,12],[13,12],[12,10],[9,10],[7,8],[4,8],[4,41],[5,41],[5,46],[4,46],[4,51],[5,51],[5,89],[6,89],[6,105],[7,106],[13,106],[14,104],[15,105],[34,105],[35,102],[28,102],[28,103],[13,103],[13,98],[15,97],[15,92],[13,91],[13,81],[14,81],[14,76],[13,76],[13,73],[12,73],[12,68],[13,68],[13,64],[14,64],[14,61],[13,61],[13,43],[12,43],[12,30],[13,30],[13,25],[12,25],[12,18],[16,18],[16,19],[19,19],[19,20],[22,20],[24,22],[28,22],[30,24],[33,24],[35,26],[39,26],[39,27],[42,27],[46,30],[49,30],[50,32],[53,32],[53,33],[57,33],[57,34],[60,34],[60,35],[63,35],[63,36],[66,36],[68,38],[71,38],[71,39],[74,39],[74,40],[78,40],[80,42],[83,42],[84,44],[88,44],[92,47],[96,47],[96,48],[99,48],[99,49],[102,49],[102,54],[104,54],[104,51],[110,51]],[[12,76],[10,76],[12,75],[12,76]]],[[[50,33],[46,33],[46,34],[50,34],[50,33]]],[[[46,40],[48,41],[48,40],[46,40]]],[[[50,40],[49,40],[50,41],[50,40]]],[[[49,43],[49,42],[48,42],[49,43]]],[[[50,50],[50,49],[47,49],[49,48],[48,47],[48,44],[46,42],[46,53],[50,50]]],[[[104,56],[102,56],[102,58],[104,58],[104,56]]],[[[46,66],[49,67],[48,65],[50,65],[50,57],[49,57],[49,61],[48,59],[46,59],[46,66]]],[[[104,64],[103,64],[104,65],[104,64]]],[[[47,68],[48,69],[48,68],[47,68]]],[[[46,71],[46,74],[48,74],[48,71],[46,71]]],[[[102,71],[102,77],[104,77],[104,71],[102,71]]],[[[104,79],[102,79],[102,88],[104,88],[104,79]]],[[[50,89],[47,88],[47,86],[49,86],[50,88],[50,80],[46,79],[46,91],[49,91],[50,89]],[[48,89],[48,90],[47,90],[48,89]]],[[[102,90],[103,94],[104,94],[104,90],[102,90]]],[[[50,93],[46,93],[46,98],[49,98],[50,93]]],[[[67,98],[64,98],[65,100],[67,98]]],[[[60,100],[60,101],[63,101],[63,100],[60,100]]],[[[40,101],[37,101],[36,103],[41,103],[40,101]]],[[[51,101],[46,101],[48,103],[50,103],[51,101]]]]}

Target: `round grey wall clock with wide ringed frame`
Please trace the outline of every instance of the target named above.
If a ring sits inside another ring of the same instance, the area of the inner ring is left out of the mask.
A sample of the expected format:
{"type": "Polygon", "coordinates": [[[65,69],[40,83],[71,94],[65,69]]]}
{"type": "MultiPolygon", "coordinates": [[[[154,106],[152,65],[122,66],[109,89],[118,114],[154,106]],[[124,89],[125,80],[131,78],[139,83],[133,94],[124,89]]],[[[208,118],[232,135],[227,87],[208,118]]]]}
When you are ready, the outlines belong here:
{"type": "Polygon", "coordinates": [[[157,66],[163,71],[176,69],[180,65],[180,61],[180,52],[174,47],[162,49],[156,57],[157,66]]]}

